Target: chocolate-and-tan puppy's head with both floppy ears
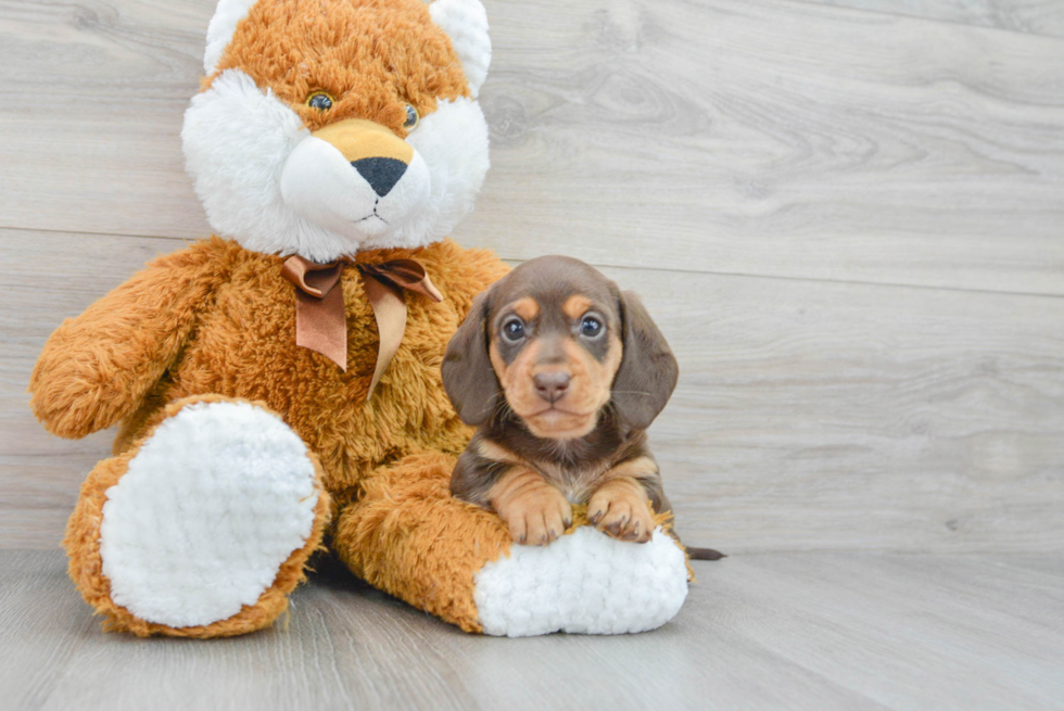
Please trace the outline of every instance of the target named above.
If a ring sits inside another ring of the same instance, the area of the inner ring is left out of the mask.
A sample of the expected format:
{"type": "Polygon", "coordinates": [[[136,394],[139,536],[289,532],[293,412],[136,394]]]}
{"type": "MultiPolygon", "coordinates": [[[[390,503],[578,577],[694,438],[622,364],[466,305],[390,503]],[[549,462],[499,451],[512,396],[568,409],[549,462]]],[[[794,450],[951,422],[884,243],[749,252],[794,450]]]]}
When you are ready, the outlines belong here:
{"type": "Polygon", "coordinates": [[[537,437],[590,433],[604,407],[646,429],[676,384],[664,337],[631,293],[593,267],[548,256],[522,264],[477,297],[447,346],[443,384],[461,419],[499,404],[537,437]]]}

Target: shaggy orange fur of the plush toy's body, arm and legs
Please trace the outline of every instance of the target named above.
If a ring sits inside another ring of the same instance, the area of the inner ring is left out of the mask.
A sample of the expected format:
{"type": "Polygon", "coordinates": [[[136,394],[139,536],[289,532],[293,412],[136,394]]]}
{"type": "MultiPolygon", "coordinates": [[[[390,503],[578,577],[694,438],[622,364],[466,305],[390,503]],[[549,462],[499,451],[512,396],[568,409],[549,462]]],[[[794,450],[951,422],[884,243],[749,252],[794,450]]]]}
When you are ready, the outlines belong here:
{"type": "Polygon", "coordinates": [[[111,602],[100,572],[104,492],[163,417],[186,398],[207,395],[261,401],[303,437],[332,496],[339,522],[332,546],[356,573],[465,630],[479,630],[472,575],[506,550],[509,538],[497,517],[447,491],[453,457],[470,431],[447,401],[440,364],[472,297],[507,267],[490,252],[449,240],[359,253],[353,262],[409,256],[426,266],[444,300],[406,296],[403,344],[368,402],[377,329],[354,266],[342,278],[346,372],[295,345],[295,296],[281,276],[283,259],[217,238],[155,259],[55,331],[30,378],[37,416],[67,437],[123,423],[116,456],[89,475],[65,541],[72,576],[113,626],[220,636],[269,624],[284,609],[284,595],[330,517],[324,497],[317,537],[292,555],[258,605],[237,618],[175,630],[111,602]]]}

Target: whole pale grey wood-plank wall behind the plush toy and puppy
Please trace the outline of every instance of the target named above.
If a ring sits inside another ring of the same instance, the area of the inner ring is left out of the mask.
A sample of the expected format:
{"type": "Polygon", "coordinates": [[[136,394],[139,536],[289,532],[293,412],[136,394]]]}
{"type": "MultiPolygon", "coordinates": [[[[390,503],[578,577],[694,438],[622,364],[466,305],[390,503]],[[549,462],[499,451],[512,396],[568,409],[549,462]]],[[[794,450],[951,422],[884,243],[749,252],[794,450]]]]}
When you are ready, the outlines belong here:
{"type": "MultiPolygon", "coordinates": [[[[688,541],[1064,550],[1064,3],[485,3],[456,237],[643,294],[688,541]]],[[[178,134],[213,5],[0,0],[0,547],[55,547],[109,448],[29,415],[43,340],[210,232],[178,134]]]]}

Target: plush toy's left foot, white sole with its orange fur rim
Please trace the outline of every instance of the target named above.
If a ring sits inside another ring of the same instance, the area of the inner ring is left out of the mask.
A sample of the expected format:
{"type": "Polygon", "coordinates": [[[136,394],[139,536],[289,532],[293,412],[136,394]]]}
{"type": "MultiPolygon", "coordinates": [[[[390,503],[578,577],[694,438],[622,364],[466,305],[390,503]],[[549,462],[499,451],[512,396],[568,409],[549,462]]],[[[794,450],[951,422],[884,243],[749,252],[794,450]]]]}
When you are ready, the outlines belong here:
{"type": "Polygon", "coordinates": [[[206,396],[169,405],[81,486],[63,544],[107,626],[220,637],[270,624],[320,545],[320,467],[279,417],[206,396]]]}

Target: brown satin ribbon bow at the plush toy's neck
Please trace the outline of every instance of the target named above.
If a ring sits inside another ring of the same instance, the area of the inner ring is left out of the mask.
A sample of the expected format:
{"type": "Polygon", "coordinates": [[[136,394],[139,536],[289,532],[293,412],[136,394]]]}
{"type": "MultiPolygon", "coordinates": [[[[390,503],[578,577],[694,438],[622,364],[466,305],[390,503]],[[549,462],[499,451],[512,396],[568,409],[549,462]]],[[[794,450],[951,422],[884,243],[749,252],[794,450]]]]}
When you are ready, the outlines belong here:
{"type": "MultiPolygon", "coordinates": [[[[380,335],[377,366],[366,393],[369,399],[403,342],[406,331],[403,290],[415,291],[435,302],[443,301],[443,294],[429,279],[425,267],[414,259],[357,266],[380,335]]],[[[343,289],[335,288],[343,267],[343,262],[318,264],[296,255],[284,261],[281,275],[295,285],[295,344],[320,353],[346,372],[347,318],[343,289]]]]}

